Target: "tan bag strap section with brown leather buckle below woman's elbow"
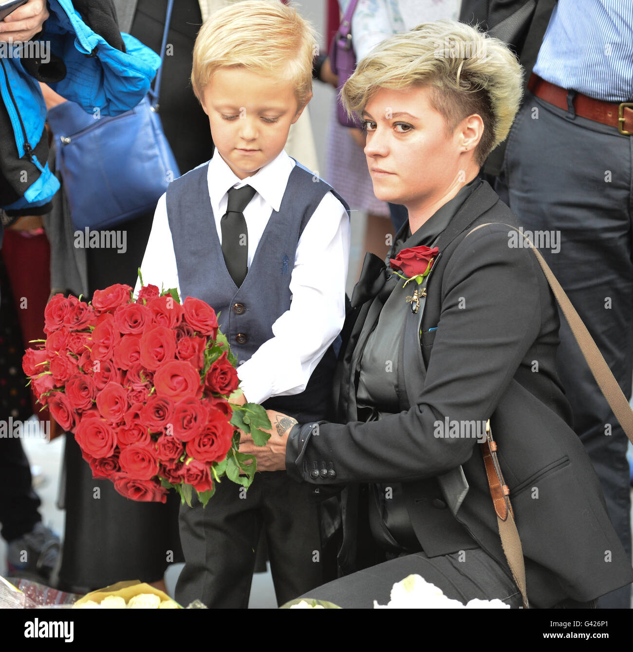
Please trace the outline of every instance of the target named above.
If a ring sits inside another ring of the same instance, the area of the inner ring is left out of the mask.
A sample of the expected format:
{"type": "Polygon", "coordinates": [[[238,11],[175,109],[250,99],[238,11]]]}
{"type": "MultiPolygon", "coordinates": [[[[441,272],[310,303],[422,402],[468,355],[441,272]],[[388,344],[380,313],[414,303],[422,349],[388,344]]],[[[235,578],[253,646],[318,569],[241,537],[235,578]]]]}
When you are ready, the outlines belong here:
{"type": "Polygon", "coordinates": [[[490,420],[486,423],[486,441],[480,443],[479,447],[484,458],[490,496],[492,496],[492,503],[495,506],[495,512],[497,512],[497,526],[499,527],[501,546],[514,582],[521,591],[523,608],[529,609],[521,538],[514,523],[514,512],[512,511],[512,505],[510,505],[510,490],[503,480],[503,473],[501,473],[499,460],[497,460],[497,443],[492,438],[490,420]]]}

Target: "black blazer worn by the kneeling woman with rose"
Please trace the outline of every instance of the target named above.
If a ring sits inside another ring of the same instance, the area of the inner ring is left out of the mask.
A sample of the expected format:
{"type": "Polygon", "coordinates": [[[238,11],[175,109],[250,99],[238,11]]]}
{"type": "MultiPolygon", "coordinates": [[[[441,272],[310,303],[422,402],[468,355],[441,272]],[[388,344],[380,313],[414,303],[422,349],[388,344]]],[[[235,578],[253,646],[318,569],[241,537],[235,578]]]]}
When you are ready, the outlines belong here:
{"type": "MultiPolygon", "coordinates": [[[[434,437],[435,422],[445,417],[490,418],[522,539],[531,603],[548,608],[567,598],[593,600],[632,582],[633,569],[591,462],[570,427],[555,370],[559,318],[548,282],[533,252],[508,246],[507,226],[470,233],[488,222],[519,226],[484,182],[439,238],[421,347],[418,317],[411,313],[405,329],[402,412],[369,423],[294,428],[287,470],[323,489],[404,482],[409,516],[426,554],[481,547],[509,574],[476,439],[434,437]],[[465,497],[459,496],[462,469],[465,497]]],[[[416,244],[414,233],[405,246],[416,244]]],[[[348,325],[339,368],[344,415],[353,401],[353,381],[346,378],[355,338],[373,295],[388,287],[380,267],[364,267],[353,297],[357,321],[348,325]]],[[[344,506],[344,519],[347,511],[344,506]]],[[[347,526],[349,548],[353,533],[347,526]]],[[[349,557],[349,550],[345,554],[349,557]]]]}

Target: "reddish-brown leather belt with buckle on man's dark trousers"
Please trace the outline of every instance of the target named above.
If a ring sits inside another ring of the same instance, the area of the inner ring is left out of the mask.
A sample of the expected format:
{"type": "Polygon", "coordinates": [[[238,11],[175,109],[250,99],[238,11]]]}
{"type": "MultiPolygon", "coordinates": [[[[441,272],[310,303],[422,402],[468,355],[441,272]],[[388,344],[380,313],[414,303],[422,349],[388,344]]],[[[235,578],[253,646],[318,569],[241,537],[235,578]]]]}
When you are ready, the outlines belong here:
{"type": "MultiPolygon", "coordinates": [[[[564,111],[568,110],[567,93],[564,88],[546,82],[534,73],[531,74],[527,88],[542,100],[557,106],[564,111]]],[[[576,93],[572,102],[576,115],[587,118],[602,125],[614,126],[625,136],[633,135],[633,102],[602,102],[581,93],[576,93]]]]}

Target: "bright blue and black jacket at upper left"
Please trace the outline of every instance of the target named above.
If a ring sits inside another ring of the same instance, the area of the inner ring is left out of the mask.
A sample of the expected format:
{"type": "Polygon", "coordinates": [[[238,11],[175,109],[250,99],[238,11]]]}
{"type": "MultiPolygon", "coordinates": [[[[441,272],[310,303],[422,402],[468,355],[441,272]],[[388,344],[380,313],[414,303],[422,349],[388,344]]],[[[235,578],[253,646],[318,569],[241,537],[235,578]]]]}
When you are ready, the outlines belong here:
{"type": "MultiPolygon", "coordinates": [[[[59,57],[66,68],[61,81],[50,83],[52,89],[89,113],[118,115],[136,106],[160,57],[128,34],[121,34],[126,52],[111,46],[83,22],[70,0],[49,0],[49,12],[37,37],[40,52],[59,57]]],[[[113,16],[111,22],[118,31],[113,16]]],[[[7,110],[0,115],[0,208],[14,215],[42,207],[59,190],[47,163],[46,104],[18,49],[0,56],[0,96],[7,110]]]]}

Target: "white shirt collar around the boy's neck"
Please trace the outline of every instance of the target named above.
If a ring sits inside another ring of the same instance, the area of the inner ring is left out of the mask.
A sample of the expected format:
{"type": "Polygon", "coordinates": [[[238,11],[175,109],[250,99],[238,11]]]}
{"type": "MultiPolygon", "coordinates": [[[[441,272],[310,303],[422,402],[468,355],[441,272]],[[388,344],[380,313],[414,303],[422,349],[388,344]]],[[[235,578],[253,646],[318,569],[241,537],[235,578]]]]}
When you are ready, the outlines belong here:
{"type": "Polygon", "coordinates": [[[259,168],[254,175],[246,179],[238,179],[216,148],[209,162],[208,172],[209,181],[213,181],[209,183],[211,203],[219,205],[233,186],[241,188],[248,185],[255,188],[274,211],[278,211],[286,192],[288,177],[294,166],[294,160],[282,149],[276,158],[263,168],[259,168]]]}

